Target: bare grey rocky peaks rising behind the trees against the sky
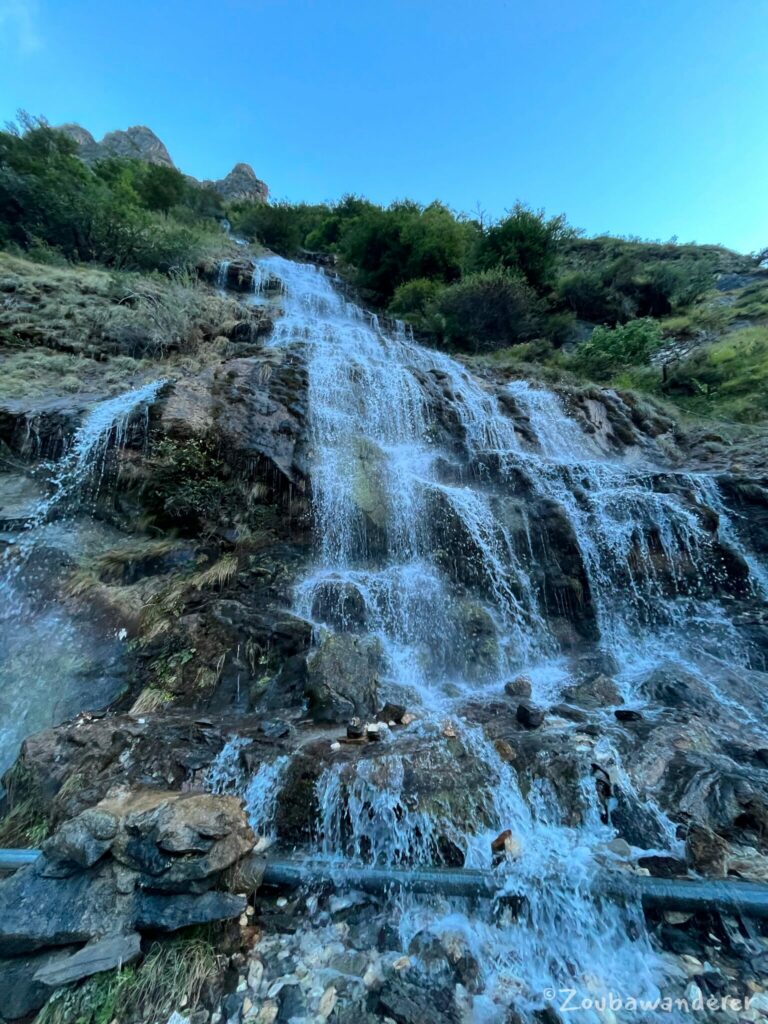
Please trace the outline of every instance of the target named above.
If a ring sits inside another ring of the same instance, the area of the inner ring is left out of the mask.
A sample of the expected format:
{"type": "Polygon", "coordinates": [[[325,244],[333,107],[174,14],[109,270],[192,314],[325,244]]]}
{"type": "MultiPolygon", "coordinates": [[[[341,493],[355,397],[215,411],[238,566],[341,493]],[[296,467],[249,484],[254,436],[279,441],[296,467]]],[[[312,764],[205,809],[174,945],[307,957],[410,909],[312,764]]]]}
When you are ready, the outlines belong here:
{"type": "MultiPolygon", "coordinates": [[[[73,139],[78,155],[87,164],[100,160],[141,160],[161,167],[175,167],[168,150],[155,132],[145,125],[134,125],[125,131],[111,131],[97,142],[91,133],[77,124],[59,125],[58,131],[73,139]]],[[[195,178],[189,178],[194,181],[195,178]]],[[[223,178],[204,181],[227,201],[246,200],[266,202],[269,189],[256,177],[250,164],[236,164],[223,178]]]]}

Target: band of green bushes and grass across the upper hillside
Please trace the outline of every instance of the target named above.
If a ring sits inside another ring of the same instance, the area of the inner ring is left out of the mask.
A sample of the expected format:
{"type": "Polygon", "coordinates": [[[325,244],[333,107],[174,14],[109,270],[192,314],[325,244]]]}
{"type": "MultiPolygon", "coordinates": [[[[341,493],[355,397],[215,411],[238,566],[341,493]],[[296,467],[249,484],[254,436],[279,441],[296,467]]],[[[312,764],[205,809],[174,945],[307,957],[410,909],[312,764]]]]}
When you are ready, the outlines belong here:
{"type": "MultiPolygon", "coordinates": [[[[696,417],[768,415],[768,270],[760,256],[587,239],[564,216],[522,203],[492,221],[437,202],[382,207],[355,196],[225,203],[172,167],[123,159],[86,166],[72,139],[43,122],[26,118],[0,132],[0,247],[49,267],[133,274],[131,287],[125,279],[110,286],[115,295],[146,293],[128,302],[130,315],[146,319],[159,288],[160,306],[173,305],[165,285],[136,286],[139,278],[188,291],[201,267],[226,255],[224,217],[276,253],[331,261],[365,304],[471,360],[634,387],[696,417]]],[[[178,289],[176,299],[189,305],[178,289]]],[[[52,322],[71,315],[48,312],[52,322]]],[[[80,337],[82,316],[73,318],[80,337]]],[[[87,329],[93,335],[98,324],[87,329]]],[[[158,349],[164,335],[170,348],[179,345],[171,323],[161,321],[155,335],[158,349]]],[[[29,344],[8,317],[0,341],[29,344]]]]}

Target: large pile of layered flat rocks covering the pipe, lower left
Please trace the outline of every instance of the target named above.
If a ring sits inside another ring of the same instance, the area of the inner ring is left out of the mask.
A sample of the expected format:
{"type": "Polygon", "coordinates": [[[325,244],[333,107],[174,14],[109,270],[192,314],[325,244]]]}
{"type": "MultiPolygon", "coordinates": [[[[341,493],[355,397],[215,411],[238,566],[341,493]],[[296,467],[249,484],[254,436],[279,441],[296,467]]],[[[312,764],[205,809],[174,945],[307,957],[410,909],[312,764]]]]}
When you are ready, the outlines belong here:
{"type": "Polygon", "coordinates": [[[233,797],[144,790],[102,801],[0,885],[0,955],[238,916],[242,897],[210,890],[254,845],[233,797]]]}

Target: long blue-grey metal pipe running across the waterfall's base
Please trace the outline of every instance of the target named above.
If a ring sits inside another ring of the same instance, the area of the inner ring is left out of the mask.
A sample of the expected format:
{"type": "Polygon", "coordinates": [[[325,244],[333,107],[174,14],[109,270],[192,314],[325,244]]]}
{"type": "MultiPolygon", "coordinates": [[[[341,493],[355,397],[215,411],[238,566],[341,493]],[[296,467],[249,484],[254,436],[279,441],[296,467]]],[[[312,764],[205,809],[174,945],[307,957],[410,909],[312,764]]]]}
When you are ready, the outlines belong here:
{"type": "MultiPolygon", "coordinates": [[[[34,863],[39,850],[0,849],[0,871],[14,871],[34,863]]],[[[393,889],[423,895],[494,899],[499,878],[492,871],[463,867],[364,867],[311,857],[245,857],[236,867],[229,886],[238,890],[262,885],[279,889],[301,885],[329,885],[383,895],[393,889]]],[[[709,910],[768,919],[768,885],[735,879],[656,879],[649,876],[606,872],[597,892],[622,901],[639,896],[645,909],[709,910]]],[[[503,893],[501,895],[504,895],[503,893]]],[[[522,898],[524,894],[510,898],[522,898]]]]}

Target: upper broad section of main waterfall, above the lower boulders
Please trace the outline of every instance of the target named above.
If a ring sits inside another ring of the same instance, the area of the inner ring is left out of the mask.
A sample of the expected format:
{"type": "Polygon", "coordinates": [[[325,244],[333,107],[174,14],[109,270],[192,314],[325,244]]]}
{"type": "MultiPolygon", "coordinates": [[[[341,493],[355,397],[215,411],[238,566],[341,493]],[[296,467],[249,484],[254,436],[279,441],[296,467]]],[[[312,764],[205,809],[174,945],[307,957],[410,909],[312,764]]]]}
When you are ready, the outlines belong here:
{"type": "Polygon", "coordinates": [[[270,344],[299,346],[309,377],[317,559],[298,588],[299,613],[311,617],[324,588],[351,586],[390,654],[392,684],[418,681],[432,701],[446,681],[464,681],[457,630],[468,599],[486,611],[499,642],[486,681],[551,664],[558,645],[531,551],[527,489],[572,532],[600,645],[626,675],[671,647],[733,644],[722,603],[707,593],[723,581],[717,545],[742,559],[752,587],[766,578],[711,477],[676,473],[645,454],[606,457],[555,393],[525,382],[507,388],[525,420],[520,432],[463,367],[401,330],[379,330],[316,267],[259,261],[257,291],[275,279],[284,315],[270,344]],[[446,418],[450,439],[440,430],[446,418]],[[719,516],[714,534],[702,509],[719,516]],[[419,636],[413,610],[426,594],[419,636]],[[441,642],[439,658],[430,636],[441,642]]]}

